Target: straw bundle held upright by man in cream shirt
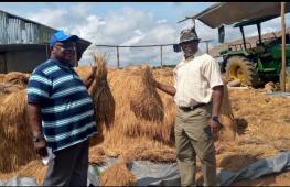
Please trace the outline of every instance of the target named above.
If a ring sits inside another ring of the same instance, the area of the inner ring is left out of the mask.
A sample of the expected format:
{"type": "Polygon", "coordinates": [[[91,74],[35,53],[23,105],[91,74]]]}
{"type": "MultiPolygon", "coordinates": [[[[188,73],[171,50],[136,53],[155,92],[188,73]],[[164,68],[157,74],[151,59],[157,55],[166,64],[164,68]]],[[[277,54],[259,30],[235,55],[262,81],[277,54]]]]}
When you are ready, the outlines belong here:
{"type": "Polygon", "coordinates": [[[137,90],[130,102],[131,110],[137,118],[143,118],[149,121],[163,121],[164,109],[162,100],[153,85],[153,75],[151,68],[143,64],[141,66],[142,89],[137,90]]]}

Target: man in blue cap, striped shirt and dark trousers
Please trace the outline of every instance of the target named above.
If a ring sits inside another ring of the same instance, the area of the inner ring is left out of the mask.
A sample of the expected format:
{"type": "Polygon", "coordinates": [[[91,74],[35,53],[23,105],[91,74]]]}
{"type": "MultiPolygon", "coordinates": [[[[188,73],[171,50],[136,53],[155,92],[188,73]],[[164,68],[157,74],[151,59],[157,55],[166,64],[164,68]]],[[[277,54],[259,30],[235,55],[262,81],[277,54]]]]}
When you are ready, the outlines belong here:
{"type": "Polygon", "coordinates": [[[51,57],[39,65],[28,84],[28,114],[33,144],[40,157],[51,150],[44,186],[86,186],[89,136],[96,133],[86,80],[73,69],[78,36],[58,31],[50,41],[51,57]]]}

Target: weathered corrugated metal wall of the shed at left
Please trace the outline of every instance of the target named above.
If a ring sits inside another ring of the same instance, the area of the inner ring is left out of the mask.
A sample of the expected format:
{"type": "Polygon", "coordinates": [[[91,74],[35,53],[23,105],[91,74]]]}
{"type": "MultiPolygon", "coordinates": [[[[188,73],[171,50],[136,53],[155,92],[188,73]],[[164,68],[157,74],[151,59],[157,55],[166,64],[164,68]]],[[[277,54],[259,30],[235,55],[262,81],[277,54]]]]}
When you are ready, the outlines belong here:
{"type": "Polygon", "coordinates": [[[47,43],[54,30],[0,11],[0,44],[47,43]]]}

